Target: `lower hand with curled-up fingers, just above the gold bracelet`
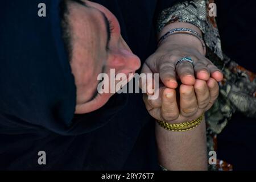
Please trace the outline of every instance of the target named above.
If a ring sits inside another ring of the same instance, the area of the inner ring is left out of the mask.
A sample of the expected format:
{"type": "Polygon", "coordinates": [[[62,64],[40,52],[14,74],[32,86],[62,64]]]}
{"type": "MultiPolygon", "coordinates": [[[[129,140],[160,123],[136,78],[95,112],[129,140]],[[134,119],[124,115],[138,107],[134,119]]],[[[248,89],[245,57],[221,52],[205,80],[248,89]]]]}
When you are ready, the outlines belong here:
{"type": "Polygon", "coordinates": [[[148,100],[148,95],[144,94],[143,100],[148,112],[155,119],[182,123],[200,117],[212,107],[217,97],[217,81],[209,78],[208,81],[196,79],[195,85],[181,84],[177,91],[162,86],[158,99],[148,100]]]}

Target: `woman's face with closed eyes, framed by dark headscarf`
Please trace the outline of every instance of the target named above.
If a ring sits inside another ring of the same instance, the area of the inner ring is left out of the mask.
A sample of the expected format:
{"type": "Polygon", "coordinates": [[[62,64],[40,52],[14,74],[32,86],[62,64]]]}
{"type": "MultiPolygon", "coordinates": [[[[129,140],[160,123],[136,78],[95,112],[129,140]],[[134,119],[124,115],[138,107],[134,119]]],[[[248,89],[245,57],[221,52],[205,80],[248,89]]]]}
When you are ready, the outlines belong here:
{"type": "Polygon", "coordinates": [[[89,113],[105,105],[113,94],[97,92],[100,73],[134,73],[140,66],[123,40],[117,18],[90,1],[68,1],[71,28],[71,68],[77,88],[76,113],[89,113]]]}

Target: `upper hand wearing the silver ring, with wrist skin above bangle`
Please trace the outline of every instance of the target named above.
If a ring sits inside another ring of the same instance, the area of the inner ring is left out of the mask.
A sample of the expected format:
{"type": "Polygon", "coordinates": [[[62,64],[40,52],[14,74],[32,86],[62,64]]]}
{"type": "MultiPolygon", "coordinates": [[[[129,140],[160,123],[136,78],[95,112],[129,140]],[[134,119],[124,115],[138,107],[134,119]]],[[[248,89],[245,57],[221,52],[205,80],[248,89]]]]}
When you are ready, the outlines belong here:
{"type": "MultiPolygon", "coordinates": [[[[159,38],[174,28],[191,28],[201,35],[201,31],[190,23],[171,23],[159,33],[159,38]]],[[[221,71],[208,60],[199,39],[188,34],[174,34],[164,39],[158,49],[143,65],[144,73],[159,73],[160,80],[168,88],[177,88],[177,79],[183,84],[195,84],[195,78],[207,81],[209,77],[221,81],[221,71]],[[194,65],[183,62],[177,65],[181,57],[191,57],[194,65]]]]}

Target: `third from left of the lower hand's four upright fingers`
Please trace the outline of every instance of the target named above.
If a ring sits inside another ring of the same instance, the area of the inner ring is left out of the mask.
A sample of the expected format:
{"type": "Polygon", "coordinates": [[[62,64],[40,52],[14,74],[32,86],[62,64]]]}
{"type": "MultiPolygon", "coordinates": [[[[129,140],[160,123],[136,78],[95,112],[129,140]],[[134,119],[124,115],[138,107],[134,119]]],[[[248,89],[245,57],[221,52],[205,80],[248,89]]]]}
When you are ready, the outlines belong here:
{"type": "Polygon", "coordinates": [[[196,80],[194,89],[199,109],[205,109],[210,102],[210,93],[207,82],[204,80],[196,80]]]}

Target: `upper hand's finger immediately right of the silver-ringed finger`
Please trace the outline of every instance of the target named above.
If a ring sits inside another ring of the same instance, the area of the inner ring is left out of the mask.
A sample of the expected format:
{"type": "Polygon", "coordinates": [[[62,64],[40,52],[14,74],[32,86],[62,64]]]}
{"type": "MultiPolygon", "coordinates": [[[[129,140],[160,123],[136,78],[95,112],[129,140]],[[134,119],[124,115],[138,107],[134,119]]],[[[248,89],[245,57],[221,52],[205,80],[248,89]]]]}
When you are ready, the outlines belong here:
{"type": "Polygon", "coordinates": [[[206,64],[203,62],[204,60],[196,61],[194,64],[194,70],[196,73],[196,78],[201,80],[209,80],[210,77],[210,71],[207,68],[206,64]]]}

